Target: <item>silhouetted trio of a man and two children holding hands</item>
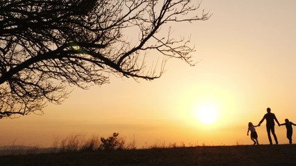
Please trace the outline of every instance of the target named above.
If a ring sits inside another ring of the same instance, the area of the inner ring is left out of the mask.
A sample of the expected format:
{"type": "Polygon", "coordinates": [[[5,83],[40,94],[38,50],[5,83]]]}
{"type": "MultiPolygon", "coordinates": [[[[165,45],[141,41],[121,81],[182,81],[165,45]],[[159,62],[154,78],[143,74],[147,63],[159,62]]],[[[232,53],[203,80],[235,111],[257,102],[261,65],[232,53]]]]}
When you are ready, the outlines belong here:
{"type": "Polygon", "coordinates": [[[270,132],[272,133],[273,138],[275,139],[275,143],[278,145],[279,142],[277,141],[277,135],[275,134],[275,122],[280,126],[286,125],[287,129],[287,138],[289,140],[289,143],[292,144],[292,135],[293,135],[293,128],[292,125],[296,126],[293,122],[290,122],[288,119],[285,119],[285,123],[279,124],[279,120],[277,120],[277,117],[275,116],[275,113],[271,113],[271,109],[268,107],[266,109],[267,113],[263,116],[262,120],[260,120],[259,124],[254,126],[252,122],[249,122],[248,128],[247,128],[247,136],[249,136],[249,131],[251,132],[251,140],[254,142],[254,145],[259,145],[258,142],[258,134],[256,133],[255,127],[260,127],[261,123],[266,120],[266,131],[268,133],[268,140],[270,142],[270,145],[272,145],[272,138],[270,136],[270,132]]]}

